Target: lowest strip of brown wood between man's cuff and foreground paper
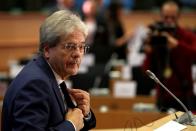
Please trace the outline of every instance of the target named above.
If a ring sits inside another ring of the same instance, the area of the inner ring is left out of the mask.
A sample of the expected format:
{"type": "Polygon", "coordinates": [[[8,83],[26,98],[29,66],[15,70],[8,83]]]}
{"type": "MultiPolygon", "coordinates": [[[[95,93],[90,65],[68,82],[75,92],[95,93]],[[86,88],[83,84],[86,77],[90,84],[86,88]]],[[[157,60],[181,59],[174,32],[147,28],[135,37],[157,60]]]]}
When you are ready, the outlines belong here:
{"type": "Polygon", "coordinates": [[[166,114],[158,112],[131,112],[131,111],[109,111],[101,113],[95,111],[97,119],[96,129],[109,128],[138,128],[158,120],[166,114]]]}

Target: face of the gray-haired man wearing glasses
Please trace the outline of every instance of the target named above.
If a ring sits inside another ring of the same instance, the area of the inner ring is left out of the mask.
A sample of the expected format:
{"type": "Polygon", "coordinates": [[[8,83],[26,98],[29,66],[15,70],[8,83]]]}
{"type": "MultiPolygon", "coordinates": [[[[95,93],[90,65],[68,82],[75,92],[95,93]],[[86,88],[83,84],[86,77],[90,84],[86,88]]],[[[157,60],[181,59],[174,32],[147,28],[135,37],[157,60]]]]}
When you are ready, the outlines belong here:
{"type": "Polygon", "coordinates": [[[84,44],[85,36],[77,30],[62,37],[56,47],[45,49],[48,62],[62,79],[78,72],[84,55],[84,44]]]}

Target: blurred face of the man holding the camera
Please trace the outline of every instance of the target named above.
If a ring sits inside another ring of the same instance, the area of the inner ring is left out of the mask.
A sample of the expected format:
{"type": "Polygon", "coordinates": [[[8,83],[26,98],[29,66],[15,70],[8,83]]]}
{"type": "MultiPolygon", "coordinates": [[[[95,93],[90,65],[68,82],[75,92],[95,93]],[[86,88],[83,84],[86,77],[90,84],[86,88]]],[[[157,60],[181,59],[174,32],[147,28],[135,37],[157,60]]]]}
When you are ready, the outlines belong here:
{"type": "Polygon", "coordinates": [[[167,25],[175,26],[179,18],[179,12],[177,6],[165,5],[162,8],[161,12],[162,22],[167,25]]]}

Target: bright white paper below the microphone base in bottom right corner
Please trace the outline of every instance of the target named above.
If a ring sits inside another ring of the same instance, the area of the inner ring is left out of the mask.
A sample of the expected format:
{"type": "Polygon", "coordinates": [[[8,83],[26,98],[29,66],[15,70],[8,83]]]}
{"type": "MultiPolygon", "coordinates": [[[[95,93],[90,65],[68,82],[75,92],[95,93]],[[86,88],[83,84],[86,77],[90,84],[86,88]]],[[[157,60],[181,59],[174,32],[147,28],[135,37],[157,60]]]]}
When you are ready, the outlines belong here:
{"type": "Polygon", "coordinates": [[[171,129],[172,131],[181,131],[185,128],[187,128],[185,125],[179,124],[175,121],[169,121],[154,131],[171,131],[171,129]]]}

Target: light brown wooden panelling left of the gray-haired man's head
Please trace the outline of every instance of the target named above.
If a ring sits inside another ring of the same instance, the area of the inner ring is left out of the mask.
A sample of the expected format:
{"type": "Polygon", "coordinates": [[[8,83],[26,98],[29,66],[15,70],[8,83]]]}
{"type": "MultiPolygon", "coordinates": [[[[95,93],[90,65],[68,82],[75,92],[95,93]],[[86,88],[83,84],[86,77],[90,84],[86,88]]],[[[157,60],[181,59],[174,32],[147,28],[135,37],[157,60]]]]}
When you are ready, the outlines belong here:
{"type": "Polygon", "coordinates": [[[8,73],[9,61],[32,56],[38,49],[39,26],[44,15],[0,13],[0,71],[8,73]]]}

